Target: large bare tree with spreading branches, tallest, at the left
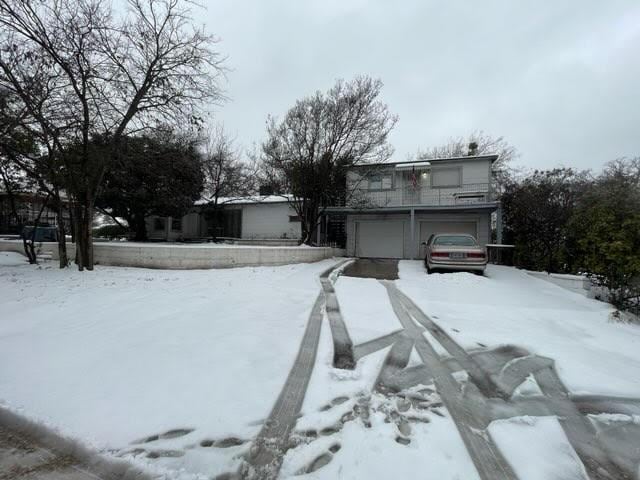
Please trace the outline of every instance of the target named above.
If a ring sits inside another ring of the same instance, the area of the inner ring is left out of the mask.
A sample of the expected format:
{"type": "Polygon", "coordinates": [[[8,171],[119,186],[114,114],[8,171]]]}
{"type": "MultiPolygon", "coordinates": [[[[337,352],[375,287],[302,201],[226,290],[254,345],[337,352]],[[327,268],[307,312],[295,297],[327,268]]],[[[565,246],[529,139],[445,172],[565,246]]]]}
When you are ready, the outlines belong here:
{"type": "Polygon", "coordinates": [[[100,0],[0,0],[0,86],[59,159],[80,270],[93,269],[94,202],[123,135],[198,123],[221,98],[222,59],[190,5],[129,0],[120,18],[100,0]],[[96,137],[109,148],[92,148],[96,137]]]}

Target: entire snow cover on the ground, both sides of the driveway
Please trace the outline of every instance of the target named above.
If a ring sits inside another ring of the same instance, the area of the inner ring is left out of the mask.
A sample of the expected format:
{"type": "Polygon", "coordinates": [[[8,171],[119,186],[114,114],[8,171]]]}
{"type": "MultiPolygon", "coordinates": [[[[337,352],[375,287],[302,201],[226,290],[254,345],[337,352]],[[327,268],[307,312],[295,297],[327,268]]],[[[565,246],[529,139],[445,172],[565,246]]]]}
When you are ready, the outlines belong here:
{"type": "MultiPolygon", "coordinates": [[[[333,263],[78,273],[0,253],[0,402],[168,478],[233,471],[333,263]]],[[[397,286],[467,350],[524,347],[552,358],[572,393],[640,398],[640,327],[609,322],[609,305],[506,267],[426,275],[401,261],[399,274],[397,286]]],[[[342,276],[335,290],[355,344],[402,327],[377,280],[342,276]]],[[[429,386],[373,391],[389,349],[335,369],[324,322],[280,478],[479,478],[429,386]],[[428,401],[416,406],[414,394],[428,401]]],[[[494,421],[488,433],[520,480],[585,478],[553,416],[494,421]]]]}

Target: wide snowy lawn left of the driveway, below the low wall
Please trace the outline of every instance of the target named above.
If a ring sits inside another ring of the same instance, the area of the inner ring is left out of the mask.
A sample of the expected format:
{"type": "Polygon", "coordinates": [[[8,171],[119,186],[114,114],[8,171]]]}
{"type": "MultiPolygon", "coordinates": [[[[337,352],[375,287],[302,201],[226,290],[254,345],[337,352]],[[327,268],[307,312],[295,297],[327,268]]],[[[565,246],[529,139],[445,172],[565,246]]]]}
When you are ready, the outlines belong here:
{"type": "Polygon", "coordinates": [[[182,449],[126,457],[185,478],[238,464],[248,444],[199,444],[255,436],[334,264],[81,273],[0,258],[2,403],[100,450],[182,449]],[[131,445],[180,428],[194,431],[131,445]]]}

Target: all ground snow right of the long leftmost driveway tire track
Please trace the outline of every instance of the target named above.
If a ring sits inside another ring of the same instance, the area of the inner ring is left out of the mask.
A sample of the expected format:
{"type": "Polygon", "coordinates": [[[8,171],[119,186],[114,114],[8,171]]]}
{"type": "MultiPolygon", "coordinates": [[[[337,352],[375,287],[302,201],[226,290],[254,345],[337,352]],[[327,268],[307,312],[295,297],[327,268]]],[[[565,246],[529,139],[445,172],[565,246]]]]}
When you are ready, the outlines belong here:
{"type": "MultiPolygon", "coordinates": [[[[401,261],[399,273],[398,286],[465,348],[521,346],[553,358],[572,393],[640,398],[640,327],[610,323],[610,305],[513,268],[489,266],[485,277],[426,275],[421,262],[401,261]]],[[[343,276],[335,290],[354,344],[401,327],[378,281],[343,276]]],[[[303,441],[287,453],[282,478],[411,478],[416,472],[426,478],[479,478],[446,409],[420,411],[398,397],[372,393],[388,352],[387,347],[364,357],[353,372],[339,371],[331,367],[330,332],[323,331],[296,426],[303,441]],[[363,409],[368,425],[362,418],[349,421],[363,409]],[[401,428],[399,413],[411,419],[408,430],[401,428]],[[326,465],[316,469],[318,462],[326,465]]],[[[415,357],[414,351],[409,366],[415,357]]],[[[537,395],[534,386],[525,382],[518,395],[537,395]]],[[[520,480],[588,478],[556,417],[497,420],[487,433],[520,480]]]]}

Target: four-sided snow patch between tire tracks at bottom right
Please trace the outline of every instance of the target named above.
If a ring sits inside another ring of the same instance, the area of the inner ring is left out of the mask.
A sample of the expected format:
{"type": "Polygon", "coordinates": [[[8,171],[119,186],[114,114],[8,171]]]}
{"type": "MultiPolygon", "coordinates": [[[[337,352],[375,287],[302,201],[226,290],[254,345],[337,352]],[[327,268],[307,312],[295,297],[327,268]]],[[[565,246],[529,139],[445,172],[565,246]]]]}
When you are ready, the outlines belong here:
{"type": "Polygon", "coordinates": [[[556,417],[497,420],[489,433],[519,480],[589,478],[556,417]]]}

